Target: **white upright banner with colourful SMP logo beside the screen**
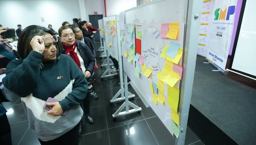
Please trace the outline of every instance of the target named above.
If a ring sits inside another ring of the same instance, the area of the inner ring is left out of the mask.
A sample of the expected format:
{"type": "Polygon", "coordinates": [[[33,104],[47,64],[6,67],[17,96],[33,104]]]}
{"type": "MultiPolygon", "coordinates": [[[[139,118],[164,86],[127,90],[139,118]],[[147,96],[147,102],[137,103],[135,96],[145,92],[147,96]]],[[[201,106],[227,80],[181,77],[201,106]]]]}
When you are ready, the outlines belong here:
{"type": "Polygon", "coordinates": [[[223,72],[230,50],[237,0],[215,0],[207,60],[223,72]]]}

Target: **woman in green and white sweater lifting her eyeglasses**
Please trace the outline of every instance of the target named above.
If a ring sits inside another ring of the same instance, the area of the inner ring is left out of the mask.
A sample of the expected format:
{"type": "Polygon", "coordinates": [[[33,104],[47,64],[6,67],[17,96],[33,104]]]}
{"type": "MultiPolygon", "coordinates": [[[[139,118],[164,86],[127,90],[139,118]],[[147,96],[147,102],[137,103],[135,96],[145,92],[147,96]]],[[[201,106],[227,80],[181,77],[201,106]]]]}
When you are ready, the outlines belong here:
{"type": "Polygon", "coordinates": [[[56,42],[51,30],[26,27],[18,41],[21,58],[9,62],[3,83],[21,97],[29,127],[41,145],[78,145],[80,103],[88,84],[75,62],[57,53],[56,42]],[[46,103],[49,97],[53,99],[46,103]]]}

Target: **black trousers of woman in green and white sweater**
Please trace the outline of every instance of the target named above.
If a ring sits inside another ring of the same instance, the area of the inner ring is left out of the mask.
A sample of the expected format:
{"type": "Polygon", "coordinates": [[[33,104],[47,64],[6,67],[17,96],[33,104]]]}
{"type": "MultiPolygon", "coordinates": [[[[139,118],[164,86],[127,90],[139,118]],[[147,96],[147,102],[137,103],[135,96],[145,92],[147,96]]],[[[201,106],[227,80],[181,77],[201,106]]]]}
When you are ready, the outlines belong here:
{"type": "Polygon", "coordinates": [[[59,138],[56,138],[51,141],[41,141],[41,145],[78,145],[79,144],[79,122],[72,130],[69,130],[67,133],[63,134],[59,138]]]}

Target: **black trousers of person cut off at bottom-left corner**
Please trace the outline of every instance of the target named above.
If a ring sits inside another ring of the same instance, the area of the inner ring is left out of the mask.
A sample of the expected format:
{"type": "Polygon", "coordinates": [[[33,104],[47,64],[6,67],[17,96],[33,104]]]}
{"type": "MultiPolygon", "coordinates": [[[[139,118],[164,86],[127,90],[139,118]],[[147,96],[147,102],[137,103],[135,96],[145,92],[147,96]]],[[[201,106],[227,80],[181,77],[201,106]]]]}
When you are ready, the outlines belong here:
{"type": "Polygon", "coordinates": [[[11,145],[11,127],[6,114],[0,116],[0,145],[11,145]]]}

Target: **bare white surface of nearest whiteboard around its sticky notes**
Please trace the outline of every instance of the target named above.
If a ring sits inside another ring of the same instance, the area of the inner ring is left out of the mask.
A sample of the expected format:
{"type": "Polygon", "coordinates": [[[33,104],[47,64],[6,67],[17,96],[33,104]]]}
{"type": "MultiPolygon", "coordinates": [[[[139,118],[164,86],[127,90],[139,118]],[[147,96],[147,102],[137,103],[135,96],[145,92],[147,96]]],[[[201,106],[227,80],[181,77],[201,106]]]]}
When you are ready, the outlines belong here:
{"type": "MultiPolygon", "coordinates": [[[[146,101],[154,112],[157,114],[162,123],[166,126],[171,134],[173,132],[170,130],[171,122],[171,108],[165,102],[163,105],[158,102],[158,105],[155,105],[152,101],[152,92],[150,91],[150,82],[158,83],[157,73],[163,69],[165,65],[165,58],[161,58],[160,54],[162,53],[162,48],[166,45],[169,45],[171,41],[175,41],[181,44],[183,48],[184,43],[184,0],[162,0],[156,1],[155,3],[146,4],[143,7],[134,8],[128,11],[125,11],[125,23],[134,23],[136,25],[136,31],[139,29],[142,33],[141,45],[142,45],[142,55],[148,55],[149,45],[153,46],[156,50],[156,57],[147,57],[145,59],[146,65],[154,68],[151,76],[149,78],[145,77],[144,74],[140,71],[139,78],[134,75],[136,62],[128,62],[128,59],[123,56],[123,68],[124,72],[128,75],[131,80],[132,87],[135,88],[137,94],[141,94],[140,98],[146,101]],[[172,7],[174,6],[174,7],[172,7]],[[152,11],[148,11],[152,10],[152,11]],[[168,17],[166,15],[168,14],[168,17]],[[160,33],[162,23],[171,23],[178,22],[180,23],[179,33],[177,40],[163,39],[158,37],[160,33]],[[138,27],[142,26],[142,27],[138,27]],[[156,33],[155,33],[156,32],[156,33]]],[[[137,35],[137,34],[136,34],[137,35]]],[[[136,37],[137,38],[137,37],[136,37]]],[[[124,40],[123,40],[124,41],[124,40]]],[[[122,44],[123,45],[123,44],[122,44]]],[[[122,47],[122,51],[127,50],[122,47]]],[[[124,52],[122,52],[124,55],[124,52]]],[[[135,57],[135,56],[134,56],[135,57]]],[[[179,88],[179,83],[176,84],[176,87],[179,88]]],[[[165,84],[164,94],[167,100],[167,85],[165,84]]]]}

